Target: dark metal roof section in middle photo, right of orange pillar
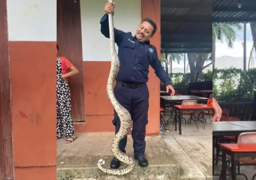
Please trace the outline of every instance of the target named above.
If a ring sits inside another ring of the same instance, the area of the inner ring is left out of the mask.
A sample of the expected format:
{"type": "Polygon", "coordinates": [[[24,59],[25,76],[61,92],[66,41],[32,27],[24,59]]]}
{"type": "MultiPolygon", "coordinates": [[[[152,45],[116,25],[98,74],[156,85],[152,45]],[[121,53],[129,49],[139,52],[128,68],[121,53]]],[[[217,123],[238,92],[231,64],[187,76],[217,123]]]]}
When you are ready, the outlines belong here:
{"type": "Polygon", "coordinates": [[[161,48],[167,53],[212,51],[212,0],[161,0],[161,48]]]}

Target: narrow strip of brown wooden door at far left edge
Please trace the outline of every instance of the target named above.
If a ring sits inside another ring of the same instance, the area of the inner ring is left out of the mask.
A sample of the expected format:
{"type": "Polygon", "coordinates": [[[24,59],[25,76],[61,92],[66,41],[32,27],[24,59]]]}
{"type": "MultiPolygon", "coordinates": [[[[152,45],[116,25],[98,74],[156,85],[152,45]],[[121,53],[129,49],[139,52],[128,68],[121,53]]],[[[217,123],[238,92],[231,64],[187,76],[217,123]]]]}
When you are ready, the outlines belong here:
{"type": "Polygon", "coordinates": [[[6,0],[0,1],[0,180],[14,179],[6,0]]]}

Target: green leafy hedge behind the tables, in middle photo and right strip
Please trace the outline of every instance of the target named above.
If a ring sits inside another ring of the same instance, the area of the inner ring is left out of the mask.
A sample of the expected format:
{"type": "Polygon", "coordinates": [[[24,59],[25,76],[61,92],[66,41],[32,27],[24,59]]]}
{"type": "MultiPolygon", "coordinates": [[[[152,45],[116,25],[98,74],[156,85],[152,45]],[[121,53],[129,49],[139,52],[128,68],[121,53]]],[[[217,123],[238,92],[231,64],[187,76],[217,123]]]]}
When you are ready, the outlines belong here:
{"type": "MultiPolygon", "coordinates": [[[[188,87],[190,73],[169,74],[174,87],[188,87]]],[[[256,90],[256,68],[243,71],[237,68],[215,69],[203,73],[200,81],[212,81],[213,91],[218,101],[240,102],[253,101],[256,90]]]]}

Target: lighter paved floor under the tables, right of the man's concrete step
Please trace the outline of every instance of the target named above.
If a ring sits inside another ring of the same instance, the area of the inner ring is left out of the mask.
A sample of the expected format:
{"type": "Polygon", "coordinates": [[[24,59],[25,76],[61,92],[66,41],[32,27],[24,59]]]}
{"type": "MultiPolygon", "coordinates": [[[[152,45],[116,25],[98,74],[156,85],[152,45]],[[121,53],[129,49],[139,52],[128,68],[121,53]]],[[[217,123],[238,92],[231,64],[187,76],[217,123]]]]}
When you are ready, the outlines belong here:
{"type": "MultiPolygon", "coordinates": [[[[166,115],[167,120],[170,116],[166,115]]],[[[184,116],[187,120],[189,116],[184,116]]],[[[182,135],[174,130],[173,120],[169,120],[168,131],[161,131],[164,142],[173,152],[175,159],[182,169],[185,169],[183,179],[205,180],[212,179],[212,120],[206,116],[206,125],[195,121],[185,125],[182,120],[182,135]]]]}

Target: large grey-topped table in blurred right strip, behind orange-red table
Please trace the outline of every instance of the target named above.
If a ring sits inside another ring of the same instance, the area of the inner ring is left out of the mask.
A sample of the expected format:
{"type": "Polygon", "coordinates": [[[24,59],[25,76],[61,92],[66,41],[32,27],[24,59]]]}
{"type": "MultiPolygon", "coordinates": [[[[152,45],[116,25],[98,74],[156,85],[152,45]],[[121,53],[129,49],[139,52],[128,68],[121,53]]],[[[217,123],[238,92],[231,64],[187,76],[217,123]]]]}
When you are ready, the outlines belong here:
{"type": "MultiPolygon", "coordinates": [[[[256,131],[255,121],[220,121],[212,123],[212,137],[219,138],[221,136],[239,136],[243,132],[256,131]],[[247,125],[248,124],[248,125],[247,125]]],[[[212,146],[212,174],[214,173],[214,146],[212,146]]]]}

